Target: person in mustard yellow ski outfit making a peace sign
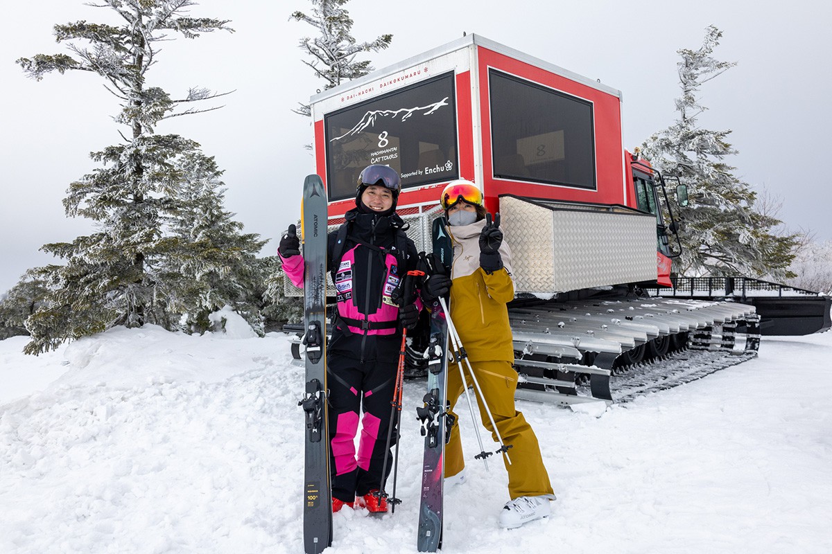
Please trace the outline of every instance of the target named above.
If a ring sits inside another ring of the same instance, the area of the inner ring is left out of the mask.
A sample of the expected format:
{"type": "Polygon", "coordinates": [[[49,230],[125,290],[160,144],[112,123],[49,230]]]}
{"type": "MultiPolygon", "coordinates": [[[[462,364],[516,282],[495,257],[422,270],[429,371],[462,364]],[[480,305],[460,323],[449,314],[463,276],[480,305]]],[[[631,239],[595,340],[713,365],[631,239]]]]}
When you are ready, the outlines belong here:
{"type": "MultiPolygon", "coordinates": [[[[518,374],[513,369],[512,330],[508,321],[508,302],[514,298],[511,276],[511,250],[503,241],[499,214],[486,218],[483,195],[477,185],[459,179],[448,184],[440,199],[445,209],[447,231],[453,243],[450,276],[435,272],[424,282],[426,300],[445,297],[459,340],[468,354],[479,389],[477,404],[486,429],[497,440],[486,404],[504,444],[510,444],[503,463],[508,470],[511,500],[500,511],[502,527],[520,527],[547,517],[550,500],[555,498],[543,465],[540,446],[531,426],[514,406],[518,374]]],[[[453,342],[451,341],[451,344],[453,342]]],[[[468,364],[463,363],[467,385],[473,385],[468,364]]],[[[465,385],[459,365],[448,364],[448,402],[453,410],[465,385]]],[[[477,391],[477,387],[473,387],[477,391]]],[[[453,415],[456,415],[453,413],[453,415]]],[[[455,419],[445,447],[446,483],[463,477],[463,449],[455,419]]]]}

